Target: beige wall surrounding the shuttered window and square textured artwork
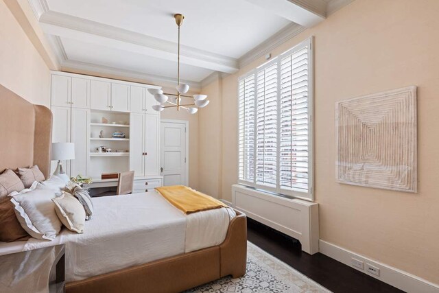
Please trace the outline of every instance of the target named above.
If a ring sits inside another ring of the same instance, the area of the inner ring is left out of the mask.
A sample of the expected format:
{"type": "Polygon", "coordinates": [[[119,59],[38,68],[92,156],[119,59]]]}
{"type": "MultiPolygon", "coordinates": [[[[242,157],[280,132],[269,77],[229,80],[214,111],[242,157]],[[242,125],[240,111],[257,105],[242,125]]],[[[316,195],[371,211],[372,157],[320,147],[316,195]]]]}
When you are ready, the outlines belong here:
{"type": "MultiPolygon", "coordinates": [[[[356,0],[271,52],[277,56],[314,36],[320,238],[434,283],[439,283],[438,12],[437,0],[356,0]],[[418,194],[335,183],[335,102],[411,84],[418,86],[418,194]]],[[[211,131],[223,134],[226,200],[237,181],[237,78],[263,62],[222,80],[222,127],[211,131]]],[[[200,116],[200,125],[211,121],[200,116]]],[[[201,153],[215,143],[200,145],[201,153]]]]}

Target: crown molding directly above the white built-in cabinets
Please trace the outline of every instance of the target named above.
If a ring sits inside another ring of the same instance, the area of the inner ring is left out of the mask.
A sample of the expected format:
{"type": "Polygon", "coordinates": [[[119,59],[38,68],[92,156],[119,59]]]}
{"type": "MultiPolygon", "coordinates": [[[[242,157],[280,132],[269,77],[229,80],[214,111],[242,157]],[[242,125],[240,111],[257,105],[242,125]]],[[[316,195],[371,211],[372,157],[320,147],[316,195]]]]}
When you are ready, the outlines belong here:
{"type": "MultiPolygon", "coordinates": [[[[83,71],[87,71],[88,73],[102,73],[102,74],[115,76],[118,79],[123,79],[123,77],[134,78],[137,80],[143,80],[146,84],[153,84],[158,86],[174,87],[177,84],[176,78],[167,78],[161,75],[141,73],[138,71],[119,69],[115,67],[108,67],[105,65],[95,65],[88,62],[82,62],[82,61],[70,60],[70,59],[61,62],[61,70],[69,71],[69,72],[79,72],[79,73],[83,71]]],[[[189,84],[189,86],[191,86],[191,91],[200,91],[201,89],[200,82],[192,82],[190,80],[180,80],[180,82],[189,84]]]]}

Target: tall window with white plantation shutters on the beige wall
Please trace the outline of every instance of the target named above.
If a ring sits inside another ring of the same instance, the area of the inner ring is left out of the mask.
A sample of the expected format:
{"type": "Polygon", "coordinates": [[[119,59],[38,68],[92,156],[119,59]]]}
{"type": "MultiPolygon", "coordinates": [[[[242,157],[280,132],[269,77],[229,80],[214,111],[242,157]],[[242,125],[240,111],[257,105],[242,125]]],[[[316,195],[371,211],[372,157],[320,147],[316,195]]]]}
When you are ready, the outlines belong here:
{"type": "Polygon", "coordinates": [[[239,79],[239,183],[312,200],[311,39],[239,79]]]}

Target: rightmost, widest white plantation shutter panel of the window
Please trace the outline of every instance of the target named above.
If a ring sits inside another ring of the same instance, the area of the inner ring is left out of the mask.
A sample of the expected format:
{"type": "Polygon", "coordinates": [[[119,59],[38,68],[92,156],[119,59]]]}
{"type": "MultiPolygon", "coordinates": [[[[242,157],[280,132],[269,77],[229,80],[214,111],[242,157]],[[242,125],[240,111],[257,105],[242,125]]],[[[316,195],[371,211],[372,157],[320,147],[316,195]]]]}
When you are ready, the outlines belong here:
{"type": "Polygon", "coordinates": [[[280,189],[309,188],[308,46],[281,56],[280,189]]]}

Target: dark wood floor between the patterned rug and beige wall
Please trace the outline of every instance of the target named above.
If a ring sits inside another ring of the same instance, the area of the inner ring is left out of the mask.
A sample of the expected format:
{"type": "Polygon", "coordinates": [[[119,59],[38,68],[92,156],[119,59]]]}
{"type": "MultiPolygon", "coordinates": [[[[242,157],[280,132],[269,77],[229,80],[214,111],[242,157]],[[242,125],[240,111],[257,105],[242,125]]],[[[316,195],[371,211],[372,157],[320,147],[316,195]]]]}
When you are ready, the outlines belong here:
{"type": "Polygon", "coordinates": [[[333,292],[403,292],[321,253],[308,255],[300,243],[248,219],[248,240],[333,292]]]}

